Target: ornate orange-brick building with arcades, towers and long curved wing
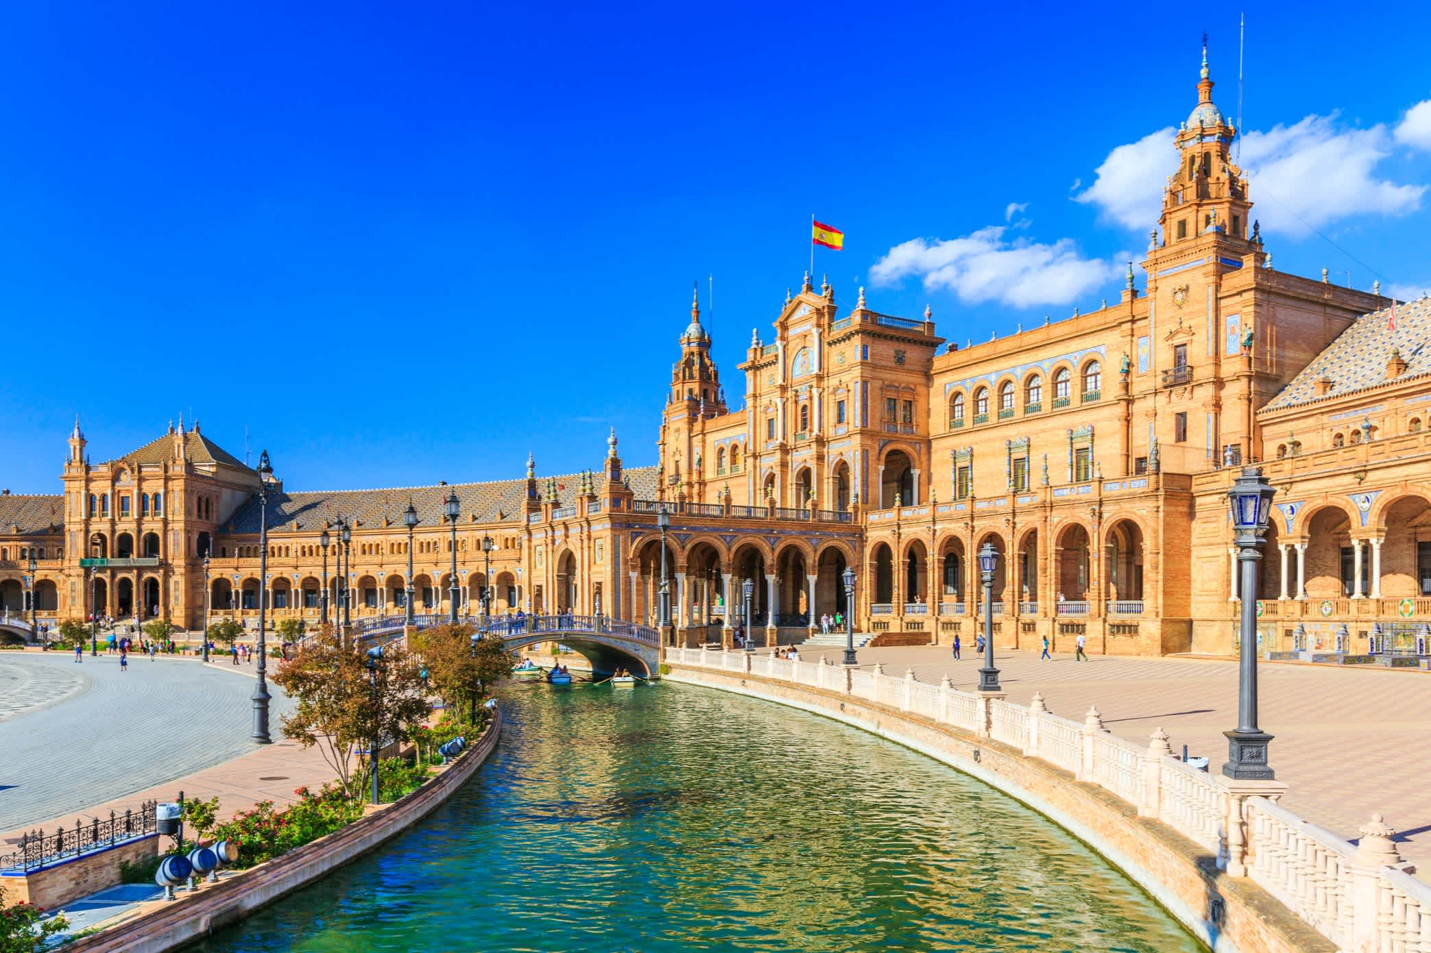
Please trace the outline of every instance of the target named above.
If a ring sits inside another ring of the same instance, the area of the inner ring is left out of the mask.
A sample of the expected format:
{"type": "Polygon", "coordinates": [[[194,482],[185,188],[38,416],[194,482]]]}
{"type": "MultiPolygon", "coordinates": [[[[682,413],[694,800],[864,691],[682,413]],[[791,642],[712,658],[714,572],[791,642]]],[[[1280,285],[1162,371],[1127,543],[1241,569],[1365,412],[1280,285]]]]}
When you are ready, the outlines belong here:
{"type": "MultiPolygon", "coordinates": [[[[846,612],[893,642],[970,639],[975,553],[1000,556],[995,637],[1093,650],[1232,650],[1238,600],[1226,489],[1244,461],[1278,487],[1259,610],[1269,650],[1425,654],[1431,632],[1431,300],[1392,303],[1272,267],[1238,130],[1206,57],[1176,136],[1156,227],[1116,301],[969,347],[929,309],[841,313],[806,276],[758,329],[728,401],[698,301],[678,339],[655,466],[386,490],[268,487],[183,421],[92,464],[76,423],[57,496],[0,496],[0,599],[41,616],[316,619],[336,549],[358,617],[574,609],[730,639],[746,612],[797,639],[846,612]],[[445,500],[455,496],[458,519],[445,500]],[[409,532],[404,513],[415,507],[409,532]],[[207,563],[205,557],[207,556],[207,563]],[[205,566],[207,564],[207,576],[205,566]],[[265,596],[266,592],[266,596],[265,596]]],[[[1151,226],[1155,223],[1149,223],[1151,226]]]]}

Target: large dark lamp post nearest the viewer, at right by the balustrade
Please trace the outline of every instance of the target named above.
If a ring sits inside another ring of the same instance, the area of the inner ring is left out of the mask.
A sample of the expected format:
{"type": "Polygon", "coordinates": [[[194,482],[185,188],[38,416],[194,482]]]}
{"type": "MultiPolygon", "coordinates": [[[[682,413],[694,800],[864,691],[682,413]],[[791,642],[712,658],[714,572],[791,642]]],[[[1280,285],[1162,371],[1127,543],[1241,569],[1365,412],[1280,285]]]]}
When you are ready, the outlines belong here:
{"type": "Polygon", "coordinates": [[[1222,773],[1238,780],[1275,779],[1266,760],[1272,736],[1256,726],[1258,562],[1262,559],[1262,537],[1275,493],[1276,489],[1262,476],[1261,467],[1242,467],[1242,476],[1228,490],[1241,569],[1238,592],[1242,594],[1242,617],[1238,636],[1242,656],[1238,660],[1238,727],[1224,732],[1228,739],[1228,763],[1222,766],[1222,773]]]}

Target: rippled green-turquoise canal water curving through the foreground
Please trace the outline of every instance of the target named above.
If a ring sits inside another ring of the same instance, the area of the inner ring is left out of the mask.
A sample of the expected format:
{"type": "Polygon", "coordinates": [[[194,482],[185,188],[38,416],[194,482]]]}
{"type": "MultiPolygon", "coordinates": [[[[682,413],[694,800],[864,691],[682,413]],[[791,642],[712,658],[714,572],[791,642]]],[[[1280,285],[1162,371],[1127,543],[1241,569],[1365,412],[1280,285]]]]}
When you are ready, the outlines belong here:
{"type": "Polygon", "coordinates": [[[418,829],[190,949],[1202,949],[1055,824],[864,732],[670,683],[502,702],[418,829]]]}

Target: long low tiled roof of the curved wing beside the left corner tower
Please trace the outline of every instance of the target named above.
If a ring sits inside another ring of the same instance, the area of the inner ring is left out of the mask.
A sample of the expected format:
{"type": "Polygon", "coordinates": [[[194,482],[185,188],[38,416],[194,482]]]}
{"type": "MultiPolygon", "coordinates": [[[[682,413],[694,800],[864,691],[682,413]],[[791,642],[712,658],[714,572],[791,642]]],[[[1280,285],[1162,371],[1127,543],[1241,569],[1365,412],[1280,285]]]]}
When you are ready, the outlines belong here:
{"type": "MultiPolygon", "coordinates": [[[[655,499],[657,467],[633,467],[622,470],[624,479],[631,483],[631,490],[637,499],[655,499]]],[[[568,473],[558,477],[537,477],[538,499],[547,492],[547,482],[557,480],[558,506],[571,504],[581,486],[580,473],[568,473]]],[[[604,480],[601,471],[592,476],[594,480],[604,480]]],[[[598,484],[600,486],[600,484],[598,484]]],[[[288,526],[293,522],[302,523],[303,529],[321,532],[326,522],[342,516],[346,520],[356,520],[359,526],[382,526],[384,519],[389,526],[402,527],[402,512],[408,509],[408,500],[418,510],[421,527],[444,526],[444,516],[448,492],[455,492],[461,502],[461,516],[458,526],[469,523],[519,523],[522,520],[522,500],[527,494],[527,480],[495,480],[491,483],[449,483],[419,487],[391,487],[385,490],[333,490],[318,493],[278,493],[268,500],[268,526],[270,530],[288,526]],[[475,517],[475,519],[474,519],[475,517]]],[[[258,533],[259,532],[259,499],[249,497],[233,519],[222,527],[228,533],[258,533]],[[230,526],[232,524],[232,526],[230,526]]]]}

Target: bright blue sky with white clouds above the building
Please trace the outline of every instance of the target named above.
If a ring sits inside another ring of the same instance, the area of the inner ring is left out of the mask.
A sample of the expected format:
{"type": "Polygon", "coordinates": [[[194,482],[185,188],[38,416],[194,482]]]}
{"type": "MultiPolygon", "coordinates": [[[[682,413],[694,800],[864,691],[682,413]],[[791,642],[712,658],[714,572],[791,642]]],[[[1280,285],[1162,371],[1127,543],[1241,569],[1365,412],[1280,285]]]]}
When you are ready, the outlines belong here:
{"type": "MultiPolygon", "coordinates": [[[[10,4],[0,486],[56,492],[180,413],[293,489],[630,464],[691,281],[736,363],[809,260],[950,339],[1116,297],[1236,9],[10,4]],[[1146,211],[1145,211],[1146,209],[1146,211]]],[[[1248,21],[1276,266],[1431,289],[1431,77],[1394,21],[1248,21]],[[1298,220],[1298,217],[1305,221],[1298,220]],[[1348,254],[1314,234],[1315,227],[1348,254]]],[[[1139,284],[1142,276],[1139,273],[1139,284]]]]}

